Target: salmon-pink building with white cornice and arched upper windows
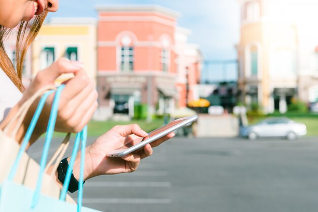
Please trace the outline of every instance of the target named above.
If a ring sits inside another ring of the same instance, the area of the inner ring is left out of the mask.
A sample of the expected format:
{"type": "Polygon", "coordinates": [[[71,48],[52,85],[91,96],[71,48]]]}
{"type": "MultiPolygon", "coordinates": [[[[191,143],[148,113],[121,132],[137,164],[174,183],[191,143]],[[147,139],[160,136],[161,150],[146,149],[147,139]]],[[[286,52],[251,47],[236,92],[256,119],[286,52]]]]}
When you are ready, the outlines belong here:
{"type": "Polygon", "coordinates": [[[107,116],[128,111],[133,116],[135,104],[147,104],[151,114],[185,107],[199,83],[201,55],[196,49],[198,59],[182,56],[187,46],[178,41],[179,13],[158,6],[98,6],[97,11],[100,109],[107,116]]]}

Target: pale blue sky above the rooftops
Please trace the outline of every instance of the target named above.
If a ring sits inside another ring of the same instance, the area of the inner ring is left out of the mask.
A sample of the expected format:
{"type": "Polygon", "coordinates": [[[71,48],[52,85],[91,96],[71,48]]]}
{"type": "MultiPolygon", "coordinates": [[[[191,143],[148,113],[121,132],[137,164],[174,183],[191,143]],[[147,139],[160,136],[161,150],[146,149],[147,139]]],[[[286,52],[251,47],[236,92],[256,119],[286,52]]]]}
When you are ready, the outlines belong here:
{"type": "MultiPolygon", "coordinates": [[[[59,0],[59,10],[49,17],[97,17],[95,5],[160,5],[181,13],[178,25],[192,31],[189,42],[200,45],[205,59],[236,59],[234,45],[239,40],[237,2],[237,0],[59,0]]],[[[232,76],[230,73],[228,75],[232,76]]]]}

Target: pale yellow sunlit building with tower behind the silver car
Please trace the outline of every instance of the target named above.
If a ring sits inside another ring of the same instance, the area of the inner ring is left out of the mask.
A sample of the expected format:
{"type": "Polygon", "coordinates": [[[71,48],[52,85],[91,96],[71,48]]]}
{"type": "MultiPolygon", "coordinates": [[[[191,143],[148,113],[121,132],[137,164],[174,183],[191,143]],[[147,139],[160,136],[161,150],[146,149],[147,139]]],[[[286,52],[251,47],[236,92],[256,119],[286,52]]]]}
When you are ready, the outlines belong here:
{"type": "Polygon", "coordinates": [[[238,84],[241,101],[266,113],[287,111],[297,92],[297,27],[280,0],[239,0],[238,84]]]}

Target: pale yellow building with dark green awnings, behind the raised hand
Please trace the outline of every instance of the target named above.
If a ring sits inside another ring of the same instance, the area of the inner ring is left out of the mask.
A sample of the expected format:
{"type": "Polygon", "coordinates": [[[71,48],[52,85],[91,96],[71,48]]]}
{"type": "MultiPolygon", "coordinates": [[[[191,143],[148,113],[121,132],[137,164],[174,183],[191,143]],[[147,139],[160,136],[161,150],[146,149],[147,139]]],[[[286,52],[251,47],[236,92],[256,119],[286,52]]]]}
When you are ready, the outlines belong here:
{"type": "Polygon", "coordinates": [[[96,83],[97,21],[93,18],[52,18],[44,23],[32,46],[33,75],[60,57],[83,62],[96,83]]]}

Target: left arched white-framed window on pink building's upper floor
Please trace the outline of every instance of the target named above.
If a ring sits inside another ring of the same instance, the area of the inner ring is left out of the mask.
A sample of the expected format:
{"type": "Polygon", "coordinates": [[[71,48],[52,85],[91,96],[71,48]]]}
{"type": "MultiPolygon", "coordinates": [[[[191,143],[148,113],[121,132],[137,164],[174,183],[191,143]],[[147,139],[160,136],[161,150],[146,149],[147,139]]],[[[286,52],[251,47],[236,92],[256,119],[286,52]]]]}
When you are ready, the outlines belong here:
{"type": "Polygon", "coordinates": [[[134,46],[129,36],[123,36],[120,47],[120,71],[134,71],[134,46]]]}

